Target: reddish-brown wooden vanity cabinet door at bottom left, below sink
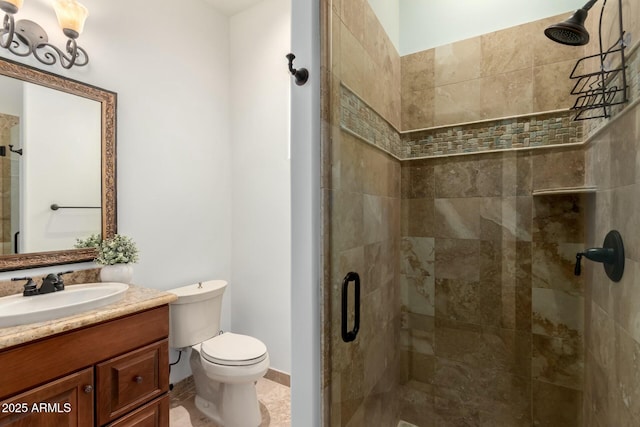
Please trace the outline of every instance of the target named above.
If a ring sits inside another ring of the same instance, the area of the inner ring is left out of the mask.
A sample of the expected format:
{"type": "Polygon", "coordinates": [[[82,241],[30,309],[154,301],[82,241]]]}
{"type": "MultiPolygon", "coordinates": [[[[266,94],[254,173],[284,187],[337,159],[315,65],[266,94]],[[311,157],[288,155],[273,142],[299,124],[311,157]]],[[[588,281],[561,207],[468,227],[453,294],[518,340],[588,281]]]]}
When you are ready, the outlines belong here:
{"type": "Polygon", "coordinates": [[[93,425],[93,368],[67,375],[0,402],[0,425],[93,425]]]}

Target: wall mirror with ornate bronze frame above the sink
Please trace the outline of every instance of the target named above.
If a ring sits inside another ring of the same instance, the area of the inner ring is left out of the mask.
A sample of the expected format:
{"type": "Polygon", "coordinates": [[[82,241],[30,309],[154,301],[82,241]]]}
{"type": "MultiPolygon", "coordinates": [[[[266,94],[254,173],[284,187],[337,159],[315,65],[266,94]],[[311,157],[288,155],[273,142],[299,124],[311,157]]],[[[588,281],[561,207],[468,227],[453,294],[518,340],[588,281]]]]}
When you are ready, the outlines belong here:
{"type": "Polygon", "coordinates": [[[0,271],[90,261],[116,233],[114,92],[0,58],[0,271]]]}

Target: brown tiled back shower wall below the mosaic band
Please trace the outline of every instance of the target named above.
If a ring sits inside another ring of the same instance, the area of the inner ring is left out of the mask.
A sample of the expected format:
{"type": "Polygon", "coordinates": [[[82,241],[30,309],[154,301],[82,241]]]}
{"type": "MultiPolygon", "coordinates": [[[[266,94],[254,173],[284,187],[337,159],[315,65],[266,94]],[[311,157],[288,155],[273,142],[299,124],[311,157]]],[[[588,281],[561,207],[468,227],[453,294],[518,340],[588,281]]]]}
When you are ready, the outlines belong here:
{"type": "Polygon", "coordinates": [[[583,160],[562,149],[403,162],[401,418],[581,425],[584,201],[532,191],[582,185],[583,160]]]}

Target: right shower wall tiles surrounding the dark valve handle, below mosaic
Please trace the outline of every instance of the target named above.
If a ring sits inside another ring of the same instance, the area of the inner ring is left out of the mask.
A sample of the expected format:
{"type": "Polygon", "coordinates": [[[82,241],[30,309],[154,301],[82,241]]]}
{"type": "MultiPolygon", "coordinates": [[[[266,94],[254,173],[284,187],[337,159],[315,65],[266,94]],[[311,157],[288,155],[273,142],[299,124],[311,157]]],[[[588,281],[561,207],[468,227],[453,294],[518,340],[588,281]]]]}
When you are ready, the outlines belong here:
{"type": "MultiPolygon", "coordinates": [[[[638,79],[638,73],[635,78],[638,79]]],[[[584,425],[637,426],[640,425],[640,105],[618,116],[596,135],[587,146],[587,160],[588,180],[598,187],[588,210],[588,246],[602,246],[606,233],[618,230],[626,259],[624,275],[618,283],[607,278],[601,265],[586,265],[584,425]]]]}

